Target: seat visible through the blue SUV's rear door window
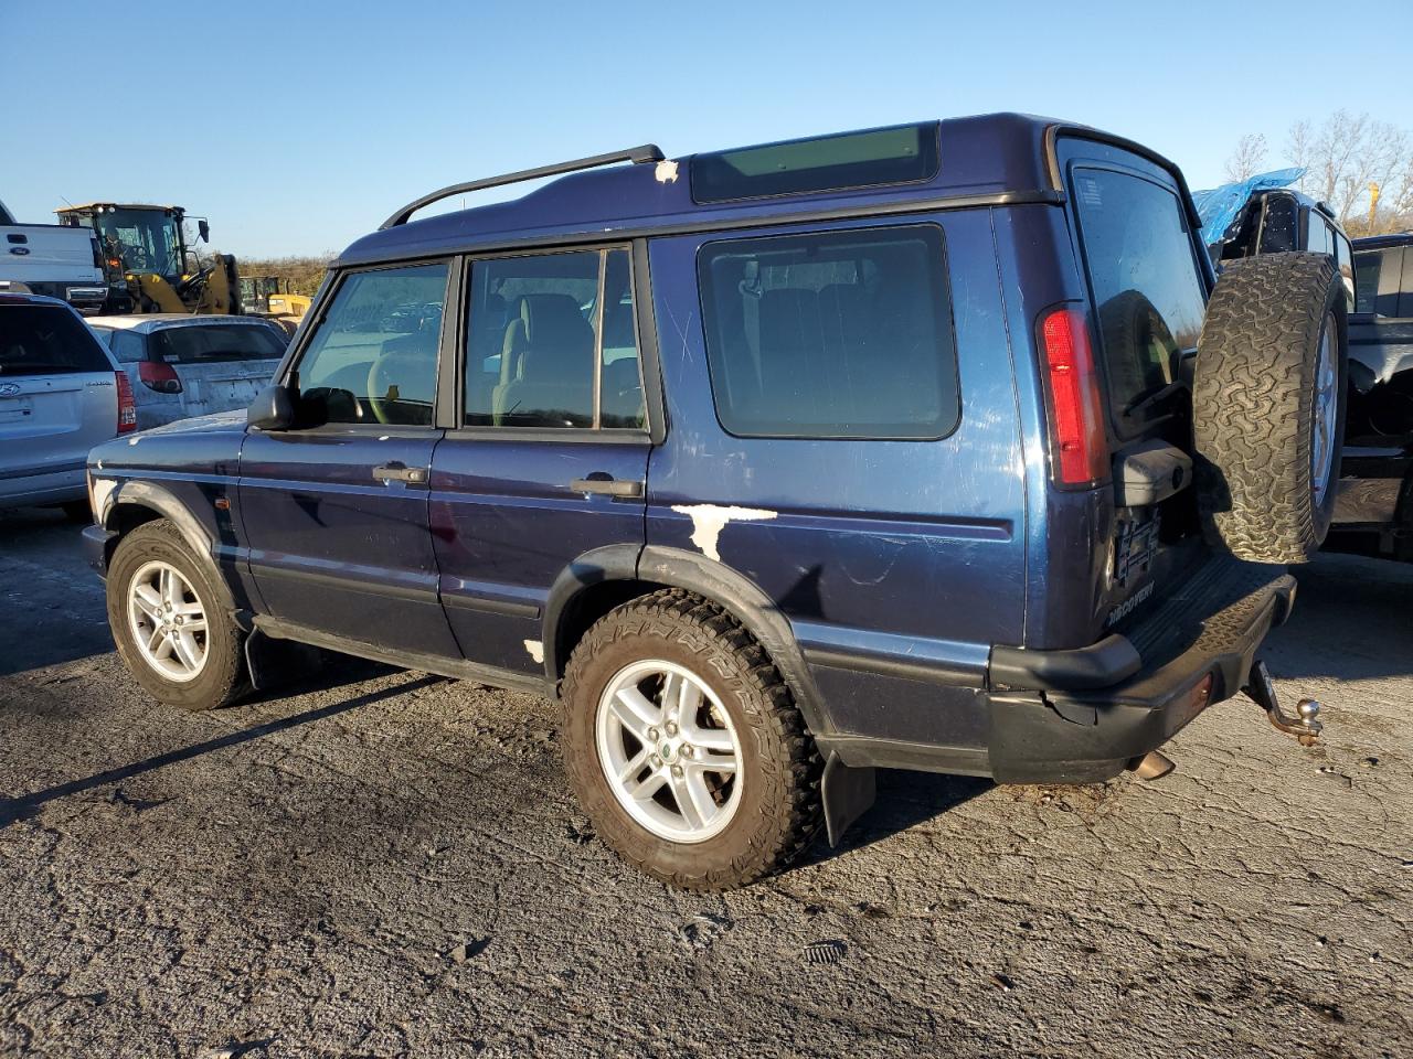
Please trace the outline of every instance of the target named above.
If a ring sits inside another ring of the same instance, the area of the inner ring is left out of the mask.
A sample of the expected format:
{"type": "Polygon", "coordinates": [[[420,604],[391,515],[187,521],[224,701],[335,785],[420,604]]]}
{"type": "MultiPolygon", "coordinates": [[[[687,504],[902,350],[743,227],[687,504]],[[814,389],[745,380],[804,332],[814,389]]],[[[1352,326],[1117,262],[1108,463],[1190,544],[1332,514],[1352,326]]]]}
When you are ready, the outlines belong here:
{"type": "Polygon", "coordinates": [[[593,425],[593,329],[571,295],[516,299],[490,408],[497,426],[593,425]]]}

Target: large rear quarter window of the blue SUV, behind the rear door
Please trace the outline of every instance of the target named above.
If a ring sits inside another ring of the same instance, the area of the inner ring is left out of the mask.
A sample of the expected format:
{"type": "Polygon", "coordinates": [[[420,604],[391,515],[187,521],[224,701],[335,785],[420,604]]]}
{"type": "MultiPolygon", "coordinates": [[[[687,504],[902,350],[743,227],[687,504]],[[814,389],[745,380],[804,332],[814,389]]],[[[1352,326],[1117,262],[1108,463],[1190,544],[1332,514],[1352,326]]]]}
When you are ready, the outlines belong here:
{"type": "Polygon", "coordinates": [[[935,225],[708,243],[697,267],[728,432],[937,439],[957,428],[935,225]]]}

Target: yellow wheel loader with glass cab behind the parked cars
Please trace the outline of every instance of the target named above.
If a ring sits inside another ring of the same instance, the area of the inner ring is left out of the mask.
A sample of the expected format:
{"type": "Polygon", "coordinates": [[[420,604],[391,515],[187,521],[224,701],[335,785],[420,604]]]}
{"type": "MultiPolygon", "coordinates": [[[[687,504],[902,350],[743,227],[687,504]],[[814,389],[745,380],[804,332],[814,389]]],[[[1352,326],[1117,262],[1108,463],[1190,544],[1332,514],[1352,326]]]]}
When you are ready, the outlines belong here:
{"type": "MultiPolygon", "coordinates": [[[[89,202],[57,209],[59,223],[97,233],[109,273],[105,312],[240,312],[236,258],[202,261],[187,241],[181,206],[89,202]]],[[[211,241],[205,217],[194,217],[196,237],[211,241]]]]}

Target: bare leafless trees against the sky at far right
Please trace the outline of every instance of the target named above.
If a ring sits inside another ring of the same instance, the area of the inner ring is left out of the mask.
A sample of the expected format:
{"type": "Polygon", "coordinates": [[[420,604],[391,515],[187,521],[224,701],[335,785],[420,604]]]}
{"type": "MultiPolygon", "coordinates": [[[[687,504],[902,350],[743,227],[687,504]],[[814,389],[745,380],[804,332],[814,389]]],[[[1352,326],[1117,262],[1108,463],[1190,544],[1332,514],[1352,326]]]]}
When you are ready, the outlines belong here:
{"type": "Polygon", "coordinates": [[[1413,229],[1413,134],[1369,114],[1335,110],[1324,121],[1296,121],[1283,160],[1269,160],[1266,137],[1248,133],[1226,158],[1226,179],[1299,165],[1296,189],[1334,210],[1351,236],[1413,229]]]}

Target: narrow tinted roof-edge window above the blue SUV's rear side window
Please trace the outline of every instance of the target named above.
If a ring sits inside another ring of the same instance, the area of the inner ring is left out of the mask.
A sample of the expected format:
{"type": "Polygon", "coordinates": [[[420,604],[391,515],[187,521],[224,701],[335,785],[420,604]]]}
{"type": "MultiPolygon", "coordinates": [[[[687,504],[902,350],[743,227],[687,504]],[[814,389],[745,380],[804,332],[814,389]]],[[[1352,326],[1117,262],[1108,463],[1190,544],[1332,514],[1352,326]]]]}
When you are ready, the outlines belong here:
{"type": "Polygon", "coordinates": [[[896,126],[694,155],[692,199],[732,202],[909,184],[931,179],[937,169],[937,124],[896,126]]]}

